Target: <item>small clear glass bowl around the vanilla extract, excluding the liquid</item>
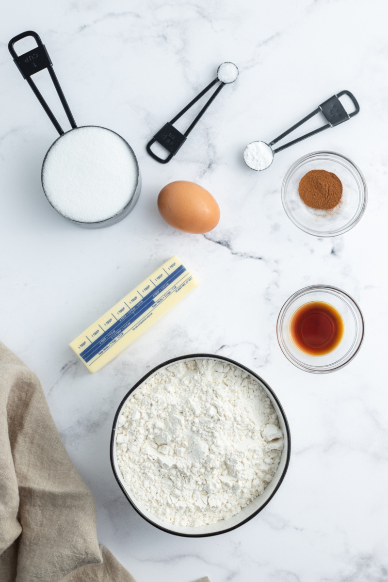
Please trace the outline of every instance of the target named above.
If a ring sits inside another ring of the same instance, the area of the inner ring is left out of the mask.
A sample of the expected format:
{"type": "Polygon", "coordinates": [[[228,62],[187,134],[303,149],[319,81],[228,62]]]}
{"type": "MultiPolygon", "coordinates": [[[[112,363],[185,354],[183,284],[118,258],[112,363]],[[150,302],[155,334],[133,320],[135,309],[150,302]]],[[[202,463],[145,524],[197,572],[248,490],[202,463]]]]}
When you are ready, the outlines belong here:
{"type": "Polygon", "coordinates": [[[312,374],[340,370],[353,360],[364,340],[364,318],[357,303],[344,291],[329,285],[311,285],[294,293],[284,303],[277,318],[277,341],[284,356],[297,368],[312,374]],[[339,346],[324,356],[309,356],[294,345],[290,322],[296,310],[309,301],[325,301],[335,307],[344,320],[344,336],[339,346]]]}

